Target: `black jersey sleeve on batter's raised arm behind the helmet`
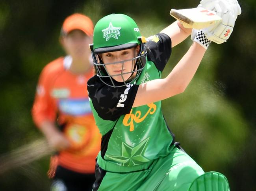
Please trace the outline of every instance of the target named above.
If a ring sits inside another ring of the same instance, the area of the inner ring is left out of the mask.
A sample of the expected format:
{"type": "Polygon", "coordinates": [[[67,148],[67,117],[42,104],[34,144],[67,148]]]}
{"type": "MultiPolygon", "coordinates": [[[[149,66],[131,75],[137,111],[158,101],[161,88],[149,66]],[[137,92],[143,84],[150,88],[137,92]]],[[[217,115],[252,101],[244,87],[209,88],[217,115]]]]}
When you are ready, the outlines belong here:
{"type": "Polygon", "coordinates": [[[172,52],[171,38],[164,33],[158,33],[147,38],[146,47],[148,61],[154,62],[156,68],[163,71],[172,52]]]}

